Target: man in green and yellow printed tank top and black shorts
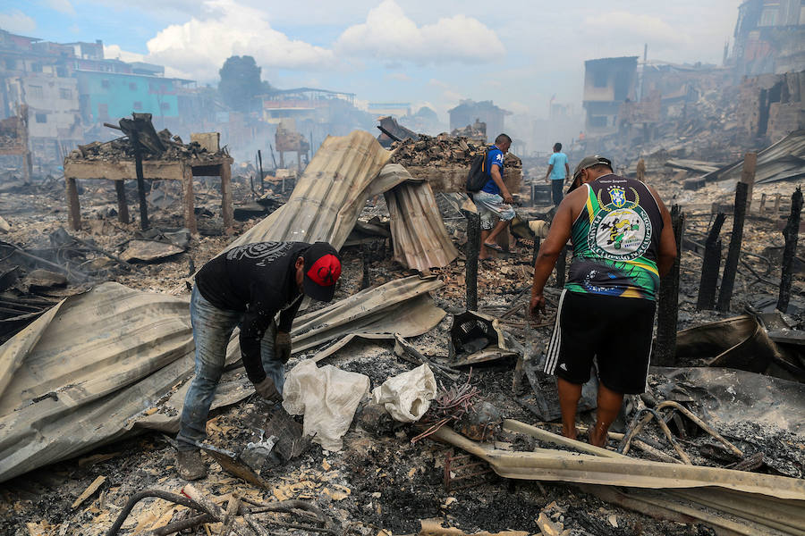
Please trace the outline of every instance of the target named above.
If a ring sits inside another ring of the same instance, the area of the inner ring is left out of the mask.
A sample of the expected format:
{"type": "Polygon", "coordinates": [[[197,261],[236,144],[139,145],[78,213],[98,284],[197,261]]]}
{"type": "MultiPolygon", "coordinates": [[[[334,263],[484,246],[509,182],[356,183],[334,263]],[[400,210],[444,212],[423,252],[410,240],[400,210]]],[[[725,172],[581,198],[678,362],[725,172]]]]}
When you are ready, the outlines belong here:
{"type": "Polygon", "coordinates": [[[532,314],[545,309],[543,289],[568,239],[570,275],[544,371],[557,377],[563,435],[575,439],[581,386],[596,359],[597,415],[589,442],[602,447],[623,395],[646,389],[660,276],[676,257],[674,230],[654,188],[615,175],[602,156],[585,157],[539,248],[532,314]]]}

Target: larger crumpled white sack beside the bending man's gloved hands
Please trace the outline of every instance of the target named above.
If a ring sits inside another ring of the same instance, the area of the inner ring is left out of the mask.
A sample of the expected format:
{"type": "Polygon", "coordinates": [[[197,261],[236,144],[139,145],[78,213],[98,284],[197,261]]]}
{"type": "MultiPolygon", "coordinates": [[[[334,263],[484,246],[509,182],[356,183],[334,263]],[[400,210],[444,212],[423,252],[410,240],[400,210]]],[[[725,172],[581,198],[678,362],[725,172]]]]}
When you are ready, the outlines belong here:
{"type": "Polygon", "coordinates": [[[341,450],[360,400],[369,395],[369,376],[347,373],[306,359],[285,375],[283,407],[305,415],[303,431],[326,450],[341,450]]]}

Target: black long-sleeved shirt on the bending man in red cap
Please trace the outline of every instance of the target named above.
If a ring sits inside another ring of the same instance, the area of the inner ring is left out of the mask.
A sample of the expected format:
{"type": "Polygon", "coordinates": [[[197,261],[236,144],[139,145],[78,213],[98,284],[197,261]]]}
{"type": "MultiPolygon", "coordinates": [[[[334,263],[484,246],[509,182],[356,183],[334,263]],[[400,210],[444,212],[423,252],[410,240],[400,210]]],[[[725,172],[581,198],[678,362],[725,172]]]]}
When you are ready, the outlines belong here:
{"type": "Polygon", "coordinates": [[[241,355],[253,383],[266,378],[260,341],[277,313],[281,312],[277,330],[291,331],[302,298],[294,263],[308,247],[305,242],[258,242],[233,247],[196,274],[199,292],[209,303],[244,313],[241,355]]]}

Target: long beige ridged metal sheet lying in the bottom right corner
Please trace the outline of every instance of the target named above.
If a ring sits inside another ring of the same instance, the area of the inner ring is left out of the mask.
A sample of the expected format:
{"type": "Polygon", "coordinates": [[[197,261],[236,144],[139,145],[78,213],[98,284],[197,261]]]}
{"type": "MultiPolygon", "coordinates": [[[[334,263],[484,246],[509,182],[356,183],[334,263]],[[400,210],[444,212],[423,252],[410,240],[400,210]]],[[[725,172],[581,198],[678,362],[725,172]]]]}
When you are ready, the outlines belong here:
{"type": "Polygon", "coordinates": [[[801,534],[805,523],[805,482],[801,479],[631,458],[509,419],[504,420],[503,428],[540,442],[572,446],[585,454],[557,448],[499,450],[447,427],[432,437],[486,460],[505,478],[596,484],[607,500],[619,504],[645,500],[643,507],[626,506],[652,515],[666,510],[682,513],[685,521],[699,519],[723,529],[718,533],[801,534]],[[627,500],[614,498],[612,490],[623,487],[628,487],[627,500]]]}

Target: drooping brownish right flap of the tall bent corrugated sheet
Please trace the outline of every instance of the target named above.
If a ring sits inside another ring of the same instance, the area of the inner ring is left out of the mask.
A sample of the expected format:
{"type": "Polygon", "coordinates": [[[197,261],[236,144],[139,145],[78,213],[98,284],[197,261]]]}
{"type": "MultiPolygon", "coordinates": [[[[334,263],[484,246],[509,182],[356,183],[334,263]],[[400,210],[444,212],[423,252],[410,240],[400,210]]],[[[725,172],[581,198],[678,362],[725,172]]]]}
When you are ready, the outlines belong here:
{"type": "Polygon", "coordinates": [[[388,190],[386,205],[395,261],[424,272],[446,266],[458,256],[427,182],[403,182],[388,190]]]}

